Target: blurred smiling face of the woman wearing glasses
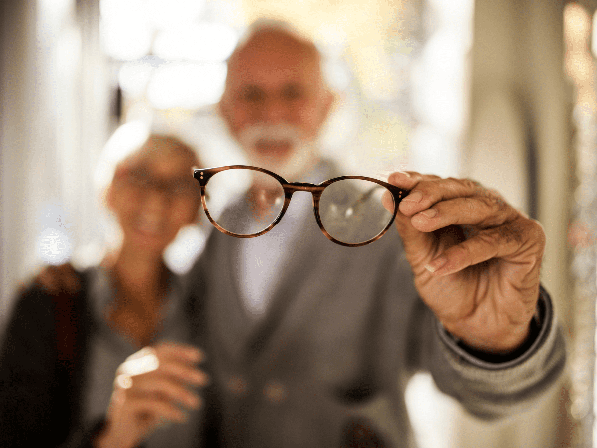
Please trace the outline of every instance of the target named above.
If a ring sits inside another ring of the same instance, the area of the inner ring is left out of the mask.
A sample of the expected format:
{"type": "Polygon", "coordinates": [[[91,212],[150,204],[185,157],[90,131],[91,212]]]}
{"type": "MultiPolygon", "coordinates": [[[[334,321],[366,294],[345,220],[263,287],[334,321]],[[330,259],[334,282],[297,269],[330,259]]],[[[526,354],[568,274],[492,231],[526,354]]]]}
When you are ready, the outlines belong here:
{"type": "Polygon", "coordinates": [[[161,254],[180,228],[192,223],[199,186],[192,177],[192,153],[167,137],[150,137],[143,148],[116,169],[108,191],[124,244],[161,254]]]}

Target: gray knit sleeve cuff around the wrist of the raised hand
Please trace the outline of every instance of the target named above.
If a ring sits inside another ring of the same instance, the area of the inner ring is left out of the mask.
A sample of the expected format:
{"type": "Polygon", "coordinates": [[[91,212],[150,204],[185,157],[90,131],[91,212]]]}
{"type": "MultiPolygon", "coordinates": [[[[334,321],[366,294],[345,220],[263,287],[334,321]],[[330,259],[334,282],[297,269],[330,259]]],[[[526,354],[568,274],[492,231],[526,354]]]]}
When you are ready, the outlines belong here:
{"type": "Polygon", "coordinates": [[[564,370],[565,343],[549,294],[541,288],[543,316],[530,347],[513,360],[491,362],[471,354],[433,317],[430,370],[439,389],[484,419],[512,414],[553,386],[564,370]]]}

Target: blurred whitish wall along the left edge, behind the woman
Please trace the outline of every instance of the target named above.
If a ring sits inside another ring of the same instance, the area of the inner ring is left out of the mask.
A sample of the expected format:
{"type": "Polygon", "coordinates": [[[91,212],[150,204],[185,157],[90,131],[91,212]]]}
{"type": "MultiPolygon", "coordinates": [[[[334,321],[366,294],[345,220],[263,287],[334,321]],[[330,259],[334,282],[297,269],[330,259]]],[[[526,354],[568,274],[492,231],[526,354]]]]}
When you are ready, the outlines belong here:
{"type": "Polygon", "coordinates": [[[48,204],[75,246],[97,237],[91,173],[109,117],[99,2],[5,0],[1,8],[0,329],[17,285],[38,269],[48,204]]]}

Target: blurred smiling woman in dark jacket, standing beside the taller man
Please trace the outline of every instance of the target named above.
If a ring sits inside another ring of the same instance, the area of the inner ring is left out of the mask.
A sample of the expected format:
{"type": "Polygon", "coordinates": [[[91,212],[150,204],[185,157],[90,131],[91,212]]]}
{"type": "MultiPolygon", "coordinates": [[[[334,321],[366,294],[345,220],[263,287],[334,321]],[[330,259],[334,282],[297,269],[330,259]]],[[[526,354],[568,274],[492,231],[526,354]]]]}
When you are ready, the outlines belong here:
{"type": "Polygon", "coordinates": [[[195,165],[184,143],[149,136],[107,189],[119,250],[53,294],[35,286],[20,294],[0,354],[0,446],[198,444],[198,388],[207,382],[196,368],[199,304],[162,260],[196,219],[195,165]],[[121,367],[115,382],[118,367],[149,345],[141,354],[154,365],[121,367]]]}

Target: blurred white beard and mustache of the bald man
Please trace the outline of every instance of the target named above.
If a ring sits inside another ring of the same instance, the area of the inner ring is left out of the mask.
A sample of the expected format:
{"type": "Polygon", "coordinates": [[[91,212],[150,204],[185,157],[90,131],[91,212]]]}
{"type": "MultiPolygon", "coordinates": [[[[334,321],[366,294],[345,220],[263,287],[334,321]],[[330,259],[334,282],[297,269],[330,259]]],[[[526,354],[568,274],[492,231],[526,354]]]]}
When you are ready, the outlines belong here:
{"type": "Polygon", "coordinates": [[[300,128],[289,124],[258,124],[245,128],[239,134],[238,142],[250,164],[273,171],[289,182],[294,182],[314,164],[316,155],[314,142],[300,128]],[[260,142],[285,143],[290,154],[261,154],[257,149],[260,142]]]}

